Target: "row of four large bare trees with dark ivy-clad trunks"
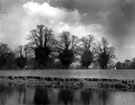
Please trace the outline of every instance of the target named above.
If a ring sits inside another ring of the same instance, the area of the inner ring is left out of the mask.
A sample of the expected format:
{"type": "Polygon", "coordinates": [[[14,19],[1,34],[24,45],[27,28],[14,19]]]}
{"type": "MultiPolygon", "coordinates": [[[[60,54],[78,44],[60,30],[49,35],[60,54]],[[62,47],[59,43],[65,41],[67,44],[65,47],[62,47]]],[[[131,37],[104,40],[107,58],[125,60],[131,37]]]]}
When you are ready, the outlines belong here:
{"type": "Polygon", "coordinates": [[[109,45],[107,40],[102,38],[101,42],[95,43],[92,35],[79,39],[70,32],[64,31],[56,40],[53,30],[44,25],[37,25],[28,39],[38,68],[46,68],[51,63],[54,66],[68,69],[74,62],[80,63],[81,67],[88,68],[96,61],[102,69],[105,69],[115,58],[115,49],[109,45]]]}

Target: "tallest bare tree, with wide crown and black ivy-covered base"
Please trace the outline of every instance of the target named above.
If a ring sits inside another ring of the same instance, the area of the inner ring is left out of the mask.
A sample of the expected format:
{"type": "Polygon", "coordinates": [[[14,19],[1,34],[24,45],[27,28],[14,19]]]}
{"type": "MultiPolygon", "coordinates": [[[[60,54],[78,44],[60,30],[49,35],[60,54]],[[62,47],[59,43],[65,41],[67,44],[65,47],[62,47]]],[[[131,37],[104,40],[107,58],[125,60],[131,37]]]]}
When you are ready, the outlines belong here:
{"type": "Polygon", "coordinates": [[[31,48],[35,53],[38,67],[47,67],[49,56],[56,43],[53,31],[44,25],[37,25],[37,28],[31,31],[28,39],[31,41],[31,48]]]}

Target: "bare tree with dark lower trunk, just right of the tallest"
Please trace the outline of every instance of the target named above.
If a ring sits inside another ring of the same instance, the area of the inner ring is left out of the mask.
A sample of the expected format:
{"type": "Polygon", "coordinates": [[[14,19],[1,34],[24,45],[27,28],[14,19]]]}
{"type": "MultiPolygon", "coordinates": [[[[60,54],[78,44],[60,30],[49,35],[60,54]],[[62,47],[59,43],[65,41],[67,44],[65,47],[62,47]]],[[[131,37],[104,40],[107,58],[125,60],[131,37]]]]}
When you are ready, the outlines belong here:
{"type": "Polygon", "coordinates": [[[68,69],[76,58],[78,38],[67,31],[62,32],[60,38],[59,60],[68,69]]]}

